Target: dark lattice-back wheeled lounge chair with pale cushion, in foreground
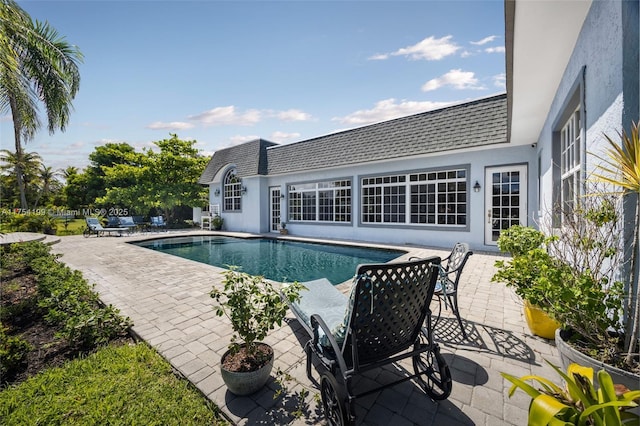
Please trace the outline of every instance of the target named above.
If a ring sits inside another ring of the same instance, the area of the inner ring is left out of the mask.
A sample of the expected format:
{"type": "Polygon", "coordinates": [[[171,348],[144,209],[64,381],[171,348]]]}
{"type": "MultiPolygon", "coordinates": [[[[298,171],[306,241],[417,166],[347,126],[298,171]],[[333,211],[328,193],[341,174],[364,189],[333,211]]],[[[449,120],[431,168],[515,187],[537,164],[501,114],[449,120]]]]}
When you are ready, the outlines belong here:
{"type": "Polygon", "coordinates": [[[429,304],[438,277],[439,257],[358,266],[351,295],[328,280],[304,283],[291,310],[310,333],[305,345],[307,376],[317,360],[320,393],[329,424],[352,424],[354,400],[416,379],[433,399],[451,393],[451,373],[433,341],[429,304]],[[414,374],[356,392],[354,378],[412,358],[414,374]]]}

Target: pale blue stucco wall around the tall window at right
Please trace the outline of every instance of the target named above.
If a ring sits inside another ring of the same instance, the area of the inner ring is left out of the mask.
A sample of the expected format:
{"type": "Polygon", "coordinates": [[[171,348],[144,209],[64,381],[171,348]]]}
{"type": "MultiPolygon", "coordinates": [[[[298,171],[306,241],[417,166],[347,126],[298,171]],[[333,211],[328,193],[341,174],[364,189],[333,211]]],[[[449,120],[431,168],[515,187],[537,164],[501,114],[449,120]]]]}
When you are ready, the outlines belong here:
{"type": "MultiPolygon", "coordinates": [[[[581,90],[585,141],[584,175],[593,170],[593,153],[601,151],[603,134],[615,136],[622,129],[624,110],[622,2],[593,2],[580,36],[556,90],[545,125],[538,135],[540,157],[540,208],[548,217],[553,199],[552,137],[574,90],[581,90]],[[581,86],[581,87],[580,87],[581,86]]],[[[637,77],[636,77],[637,78],[637,77]]],[[[636,101],[637,102],[637,101],[636,101]]],[[[550,223],[550,220],[543,219],[550,223]]]]}

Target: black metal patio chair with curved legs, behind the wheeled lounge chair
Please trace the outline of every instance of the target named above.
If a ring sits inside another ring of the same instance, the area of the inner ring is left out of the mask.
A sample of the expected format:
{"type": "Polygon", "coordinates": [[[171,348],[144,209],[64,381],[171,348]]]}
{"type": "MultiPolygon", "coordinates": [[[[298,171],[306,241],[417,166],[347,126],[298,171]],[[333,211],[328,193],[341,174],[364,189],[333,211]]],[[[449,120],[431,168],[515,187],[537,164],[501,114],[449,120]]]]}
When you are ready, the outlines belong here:
{"type": "Polygon", "coordinates": [[[451,250],[449,256],[442,259],[442,263],[440,264],[439,276],[436,283],[436,289],[434,292],[434,295],[438,298],[438,315],[436,316],[436,320],[433,326],[435,327],[440,320],[440,314],[442,313],[442,303],[444,303],[445,308],[451,306],[451,310],[458,319],[458,324],[460,325],[462,336],[465,339],[467,338],[467,332],[465,331],[464,325],[462,324],[462,318],[460,318],[460,310],[458,309],[458,284],[460,283],[462,269],[467,263],[469,256],[471,256],[472,254],[473,252],[469,250],[469,244],[456,243],[456,245],[453,246],[453,250],[451,250]]]}

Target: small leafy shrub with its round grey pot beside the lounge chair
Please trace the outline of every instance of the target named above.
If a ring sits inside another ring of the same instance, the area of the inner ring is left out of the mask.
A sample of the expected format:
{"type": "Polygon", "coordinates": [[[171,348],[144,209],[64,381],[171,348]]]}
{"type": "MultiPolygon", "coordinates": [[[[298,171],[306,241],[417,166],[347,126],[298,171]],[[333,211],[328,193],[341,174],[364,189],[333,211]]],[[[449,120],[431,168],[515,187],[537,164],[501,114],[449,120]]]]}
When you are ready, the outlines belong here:
{"type": "Polygon", "coordinates": [[[281,325],[288,303],[299,300],[302,284],[294,282],[281,289],[261,276],[252,276],[230,267],[224,272],[222,288],[213,287],[211,297],[218,316],[231,321],[233,336],[222,356],[222,378],[230,392],[249,395],[268,381],[273,367],[273,348],[262,340],[281,325]]]}

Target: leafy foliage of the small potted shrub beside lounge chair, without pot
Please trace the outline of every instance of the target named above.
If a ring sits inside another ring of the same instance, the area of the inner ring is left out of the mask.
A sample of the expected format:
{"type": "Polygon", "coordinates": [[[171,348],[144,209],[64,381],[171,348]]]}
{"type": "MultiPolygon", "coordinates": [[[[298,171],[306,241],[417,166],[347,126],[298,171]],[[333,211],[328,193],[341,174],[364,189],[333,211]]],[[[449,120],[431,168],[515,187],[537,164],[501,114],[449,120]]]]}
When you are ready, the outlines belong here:
{"type": "Polygon", "coordinates": [[[262,276],[252,276],[230,266],[224,272],[222,288],[213,287],[210,296],[215,300],[214,310],[218,316],[226,316],[231,321],[234,334],[229,348],[238,353],[243,347],[251,365],[266,362],[257,347],[267,333],[282,325],[287,313],[287,302],[299,300],[304,286],[298,282],[283,286],[280,290],[262,276]],[[244,345],[243,345],[244,344],[244,345]]]}

